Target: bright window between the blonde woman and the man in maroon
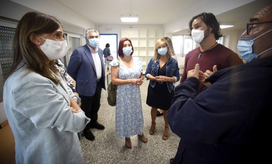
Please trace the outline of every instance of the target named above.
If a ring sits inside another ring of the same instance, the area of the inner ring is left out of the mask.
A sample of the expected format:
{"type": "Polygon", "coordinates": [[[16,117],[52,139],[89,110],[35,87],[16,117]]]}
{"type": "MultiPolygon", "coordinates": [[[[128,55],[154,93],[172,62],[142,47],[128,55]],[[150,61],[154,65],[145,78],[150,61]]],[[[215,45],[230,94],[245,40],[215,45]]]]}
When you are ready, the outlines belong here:
{"type": "Polygon", "coordinates": [[[189,51],[196,48],[196,42],[192,37],[186,35],[173,36],[172,43],[175,54],[179,57],[185,57],[189,51]]]}

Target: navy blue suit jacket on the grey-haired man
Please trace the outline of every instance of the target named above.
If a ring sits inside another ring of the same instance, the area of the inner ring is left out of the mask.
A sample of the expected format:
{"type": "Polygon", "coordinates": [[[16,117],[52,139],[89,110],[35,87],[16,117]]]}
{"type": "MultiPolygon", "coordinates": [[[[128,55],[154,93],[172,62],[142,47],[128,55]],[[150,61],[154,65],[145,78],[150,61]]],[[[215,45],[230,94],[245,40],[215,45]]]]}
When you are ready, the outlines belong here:
{"type": "MultiPolygon", "coordinates": [[[[103,50],[101,48],[98,48],[98,54],[102,66],[102,82],[99,84],[106,90],[103,50]]],[[[94,95],[98,79],[94,59],[87,44],[73,51],[67,66],[67,73],[76,81],[76,91],[79,95],[94,95]]]]}

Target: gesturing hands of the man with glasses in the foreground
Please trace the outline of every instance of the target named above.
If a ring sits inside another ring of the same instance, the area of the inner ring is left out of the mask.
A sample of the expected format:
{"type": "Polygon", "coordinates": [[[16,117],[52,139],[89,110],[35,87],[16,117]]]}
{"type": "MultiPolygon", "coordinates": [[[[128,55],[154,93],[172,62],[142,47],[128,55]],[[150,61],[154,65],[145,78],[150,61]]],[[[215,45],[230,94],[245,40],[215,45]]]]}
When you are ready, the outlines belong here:
{"type": "Polygon", "coordinates": [[[199,64],[196,64],[194,66],[194,69],[188,71],[187,78],[188,77],[195,77],[195,78],[199,79],[199,81],[202,84],[204,84],[205,86],[209,86],[209,85],[211,85],[211,83],[206,82],[205,80],[206,80],[206,78],[210,77],[214,72],[217,71],[216,65],[213,66],[212,70],[213,70],[213,72],[210,70],[207,70],[206,72],[203,73],[202,71],[199,70],[199,64]]]}

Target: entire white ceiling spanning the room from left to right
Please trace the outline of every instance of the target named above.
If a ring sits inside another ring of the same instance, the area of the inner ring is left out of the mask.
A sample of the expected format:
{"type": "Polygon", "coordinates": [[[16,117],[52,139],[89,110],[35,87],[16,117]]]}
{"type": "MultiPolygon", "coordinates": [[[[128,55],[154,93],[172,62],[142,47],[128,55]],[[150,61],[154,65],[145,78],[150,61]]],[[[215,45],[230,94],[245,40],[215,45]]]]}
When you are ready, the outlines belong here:
{"type": "MultiPolygon", "coordinates": [[[[189,20],[202,12],[214,13],[228,29],[244,29],[249,18],[271,0],[10,0],[56,16],[76,28],[95,25],[157,25],[165,34],[188,31],[189,20]],[[138,15],[138,22],[121,22],[121,15],[138,15]]],[[[9,0],[1,0],[5,5],[9,0]]],[[[13,3],[14,4],[14,3],[13,3]]],[[[4,8],[3,8],[4,10],[4,8]]],[[[1,10],[0,10],[1,13],[1,10]]],[[[2,12],[3,13],[3,12],[2,12]]],[[[8,12],[4,12],[8,13],[8,12]]],[[[13,14],[13,13],[12,13],[13,14]]],[[[18,15],[18,14],[17,14],[18,15]]],[[[16,19],[20,20],[18,15],[16,19]],[[17,18],[18,17],[18,18],[17,18]]]]}

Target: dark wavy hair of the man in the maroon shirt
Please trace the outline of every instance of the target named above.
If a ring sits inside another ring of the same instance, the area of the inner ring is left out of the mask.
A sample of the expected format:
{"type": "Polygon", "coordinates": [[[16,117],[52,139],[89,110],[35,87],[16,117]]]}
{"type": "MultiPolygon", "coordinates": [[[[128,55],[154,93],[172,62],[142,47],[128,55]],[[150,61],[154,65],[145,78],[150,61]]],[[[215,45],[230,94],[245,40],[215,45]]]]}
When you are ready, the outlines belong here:
{"type": "Polygon", "coordinates": [[[201,13],[198,14],[197,16],[194,16],[189,22],[190,31],[188,32],[190,32],[190,36],[193,29],[192,28],[193,21],[197,18],[200,18],[207,26],[212,28],[211,32],[214,33],[216,40],[222,37],[221,28],[219,26],[220,22],[217,22],[217,19],[215,18],[213,13],[201,13]]]}

